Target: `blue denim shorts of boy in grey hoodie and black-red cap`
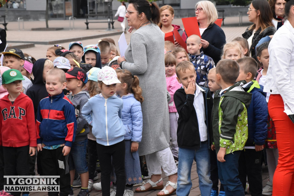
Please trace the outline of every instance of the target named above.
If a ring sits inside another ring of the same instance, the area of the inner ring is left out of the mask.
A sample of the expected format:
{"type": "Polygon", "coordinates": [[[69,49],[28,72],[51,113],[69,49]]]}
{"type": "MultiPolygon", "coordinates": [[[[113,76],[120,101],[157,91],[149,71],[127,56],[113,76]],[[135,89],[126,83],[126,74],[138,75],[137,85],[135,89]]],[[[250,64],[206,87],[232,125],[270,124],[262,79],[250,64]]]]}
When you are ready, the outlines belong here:
{"type": "Polygon", "coordinates": [[[88,163],[86,160],[88,139],[74,142],[69,152],[69,170],[76,169],[78,174],[88,171],[88,163]]]}

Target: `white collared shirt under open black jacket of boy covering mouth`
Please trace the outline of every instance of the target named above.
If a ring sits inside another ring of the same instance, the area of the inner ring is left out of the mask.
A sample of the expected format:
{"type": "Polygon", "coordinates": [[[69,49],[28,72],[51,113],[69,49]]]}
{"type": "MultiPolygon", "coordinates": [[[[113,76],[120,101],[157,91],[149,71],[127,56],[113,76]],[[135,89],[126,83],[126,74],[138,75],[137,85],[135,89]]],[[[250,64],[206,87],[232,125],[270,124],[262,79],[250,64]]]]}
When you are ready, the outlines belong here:
{"type": "Polygon", "coordinates": [[[201,87],[199,87],[196,83],[196,91],[194,94],[194,102],[193,106],[196,110],[197,120],[198,120],[198,128],[200,134],[201,142],[208,140],[207,137],[207,127],[206,127],[206,116],[205,116],[205,108],[204,108],[204,98],[202,91],[204,91],[201,87]]]}

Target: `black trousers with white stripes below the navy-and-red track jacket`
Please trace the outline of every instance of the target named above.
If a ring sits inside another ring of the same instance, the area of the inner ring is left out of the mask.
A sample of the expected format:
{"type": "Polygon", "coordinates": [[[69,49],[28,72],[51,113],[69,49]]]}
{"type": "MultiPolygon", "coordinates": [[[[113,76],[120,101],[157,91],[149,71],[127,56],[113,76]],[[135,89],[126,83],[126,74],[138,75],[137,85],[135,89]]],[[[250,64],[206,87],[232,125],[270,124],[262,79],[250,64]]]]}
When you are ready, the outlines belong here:
{"type": "MultiPolygon", "coordinates": [[[[59,196],[68,196],[71,192],[71,177],[69,174],[68,158],[69,155],[64,156],[62,153],[63,146],[54,150],[42,149],[41,163],[43,175],[60,176],[56,182],[59,182],[60,194],[59,196]]],[[[48,192],[48,195],[58,195],[59,192],[48,192]]]]}

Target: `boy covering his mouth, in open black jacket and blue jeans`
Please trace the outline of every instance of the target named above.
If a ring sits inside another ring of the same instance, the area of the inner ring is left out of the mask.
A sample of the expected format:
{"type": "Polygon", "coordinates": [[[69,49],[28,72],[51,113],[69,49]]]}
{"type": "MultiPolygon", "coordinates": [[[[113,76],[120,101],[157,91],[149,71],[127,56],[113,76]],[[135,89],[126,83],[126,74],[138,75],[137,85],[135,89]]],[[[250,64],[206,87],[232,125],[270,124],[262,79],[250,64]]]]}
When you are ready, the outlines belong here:
{"type": "Polygon", "coordinates": [[[196,84],[193,64],[182,61],[176,66],[178,82],[183,87],[174,94],[178,118],[178,188],[177,195],[189,195],[192,187],[191,167],[196,161],[201,195],[209,196],[210,179],[210,117],[213,99],[207,88],[196,84]]]}

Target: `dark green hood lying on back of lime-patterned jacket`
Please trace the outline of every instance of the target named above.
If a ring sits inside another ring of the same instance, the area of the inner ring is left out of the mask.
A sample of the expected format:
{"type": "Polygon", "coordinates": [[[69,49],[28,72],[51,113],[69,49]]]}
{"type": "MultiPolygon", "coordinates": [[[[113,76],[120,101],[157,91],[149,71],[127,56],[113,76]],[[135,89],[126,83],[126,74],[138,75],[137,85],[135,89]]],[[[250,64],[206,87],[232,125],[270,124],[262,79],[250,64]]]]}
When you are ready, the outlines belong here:
{"type": "Polygon", "coordinates": [[[239,99],[242,103],[245,104],[245,107],[248,108],[251,102],[252,93],[243,91],[241,86],[244,85],[244,83],[246,83],[246,81],[237,82],[235,85],[231,86],[222,96],[230,96],[239,99]],[[236,88],[240,88],[240,90],[235,90],[236,88]]]}

